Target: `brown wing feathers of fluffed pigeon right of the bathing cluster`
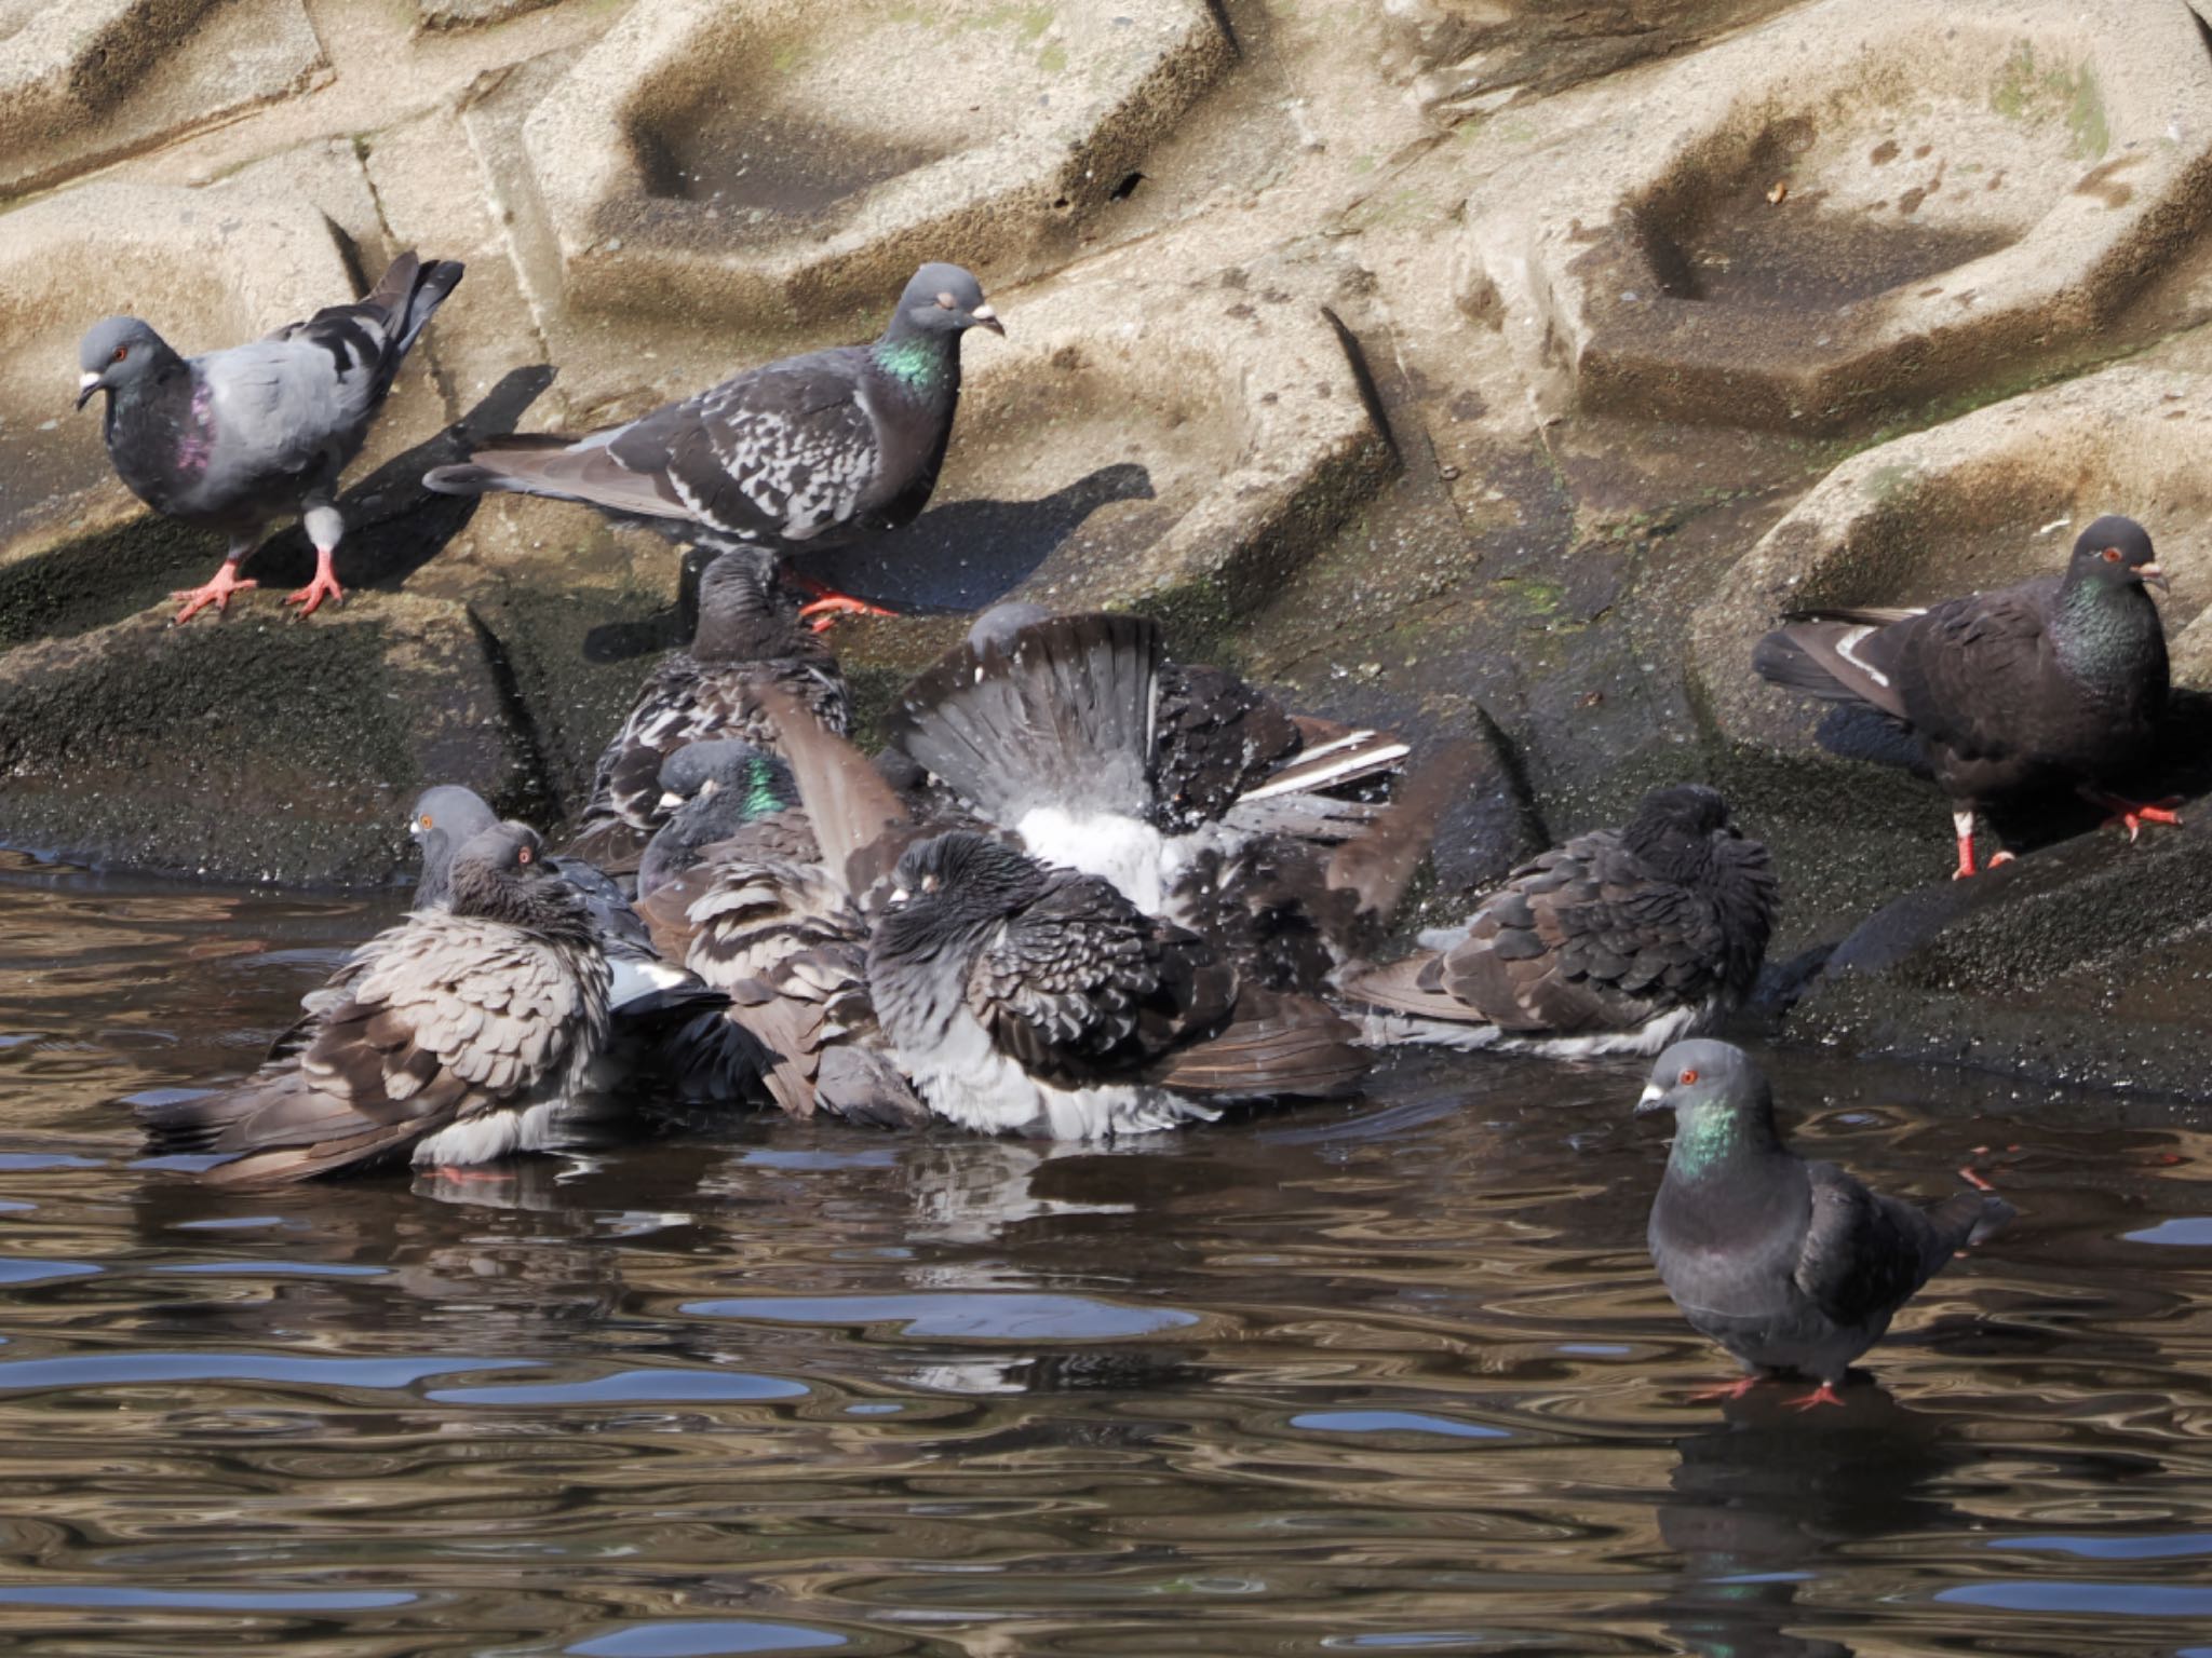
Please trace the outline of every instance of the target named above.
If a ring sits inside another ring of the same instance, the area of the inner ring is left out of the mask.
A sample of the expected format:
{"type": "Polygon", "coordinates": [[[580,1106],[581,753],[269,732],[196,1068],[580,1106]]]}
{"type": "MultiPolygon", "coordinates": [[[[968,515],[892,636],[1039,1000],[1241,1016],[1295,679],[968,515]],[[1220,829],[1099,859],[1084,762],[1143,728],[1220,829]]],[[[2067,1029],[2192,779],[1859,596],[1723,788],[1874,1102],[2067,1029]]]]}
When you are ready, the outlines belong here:
{"type": "Polygon", "coordinates": [[[1467,940],[1360,975],[1360,1001],[1509,1032],[1628,1030],[1719,988],[1721,917],[1599,829],[1515,869],[1467,940]]]}

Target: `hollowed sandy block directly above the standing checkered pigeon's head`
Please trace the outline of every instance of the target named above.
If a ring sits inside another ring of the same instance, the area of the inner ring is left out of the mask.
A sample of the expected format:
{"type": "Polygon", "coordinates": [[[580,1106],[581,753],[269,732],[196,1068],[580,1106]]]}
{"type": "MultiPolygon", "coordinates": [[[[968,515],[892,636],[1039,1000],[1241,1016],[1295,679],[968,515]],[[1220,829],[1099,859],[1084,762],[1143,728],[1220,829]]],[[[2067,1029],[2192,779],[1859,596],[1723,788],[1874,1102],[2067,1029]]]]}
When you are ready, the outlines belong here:
{"type": "Polygon", "coordinates": [[[637,7],[529,115],[515,245],[542,303],[730,321],[1031,274],[1232,62],[1203,0],[637,7]]]}

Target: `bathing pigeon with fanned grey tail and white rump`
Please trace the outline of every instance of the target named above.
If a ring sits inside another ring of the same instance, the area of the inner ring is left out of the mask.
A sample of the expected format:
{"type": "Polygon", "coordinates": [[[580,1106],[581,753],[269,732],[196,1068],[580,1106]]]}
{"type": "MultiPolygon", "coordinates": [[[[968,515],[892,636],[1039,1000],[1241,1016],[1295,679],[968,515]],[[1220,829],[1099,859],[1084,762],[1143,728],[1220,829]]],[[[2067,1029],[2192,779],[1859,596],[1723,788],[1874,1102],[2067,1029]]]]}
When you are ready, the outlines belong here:
{"type": "Polygon", "coordinates": [[[1396,769],[1407,745],[1352,732],[1307,754],[1274,699],[1166,661],[1144,617],[989,612],[900,694],[889,732],[982,822],[1044,862],[1102,875],[1146,915],[1197,928],[1283,990],[1318,988],[1352,933],[1396,909],[1449,805],[1431,789],[1389,829],[1374,814],[1336,827],[1323,838],[1365,842],[1343,858],[1239,827],[1254,796],[1358,783],[1396,769]],[[1413,856],[1387,858],[1385,844],[1413,856]]]}

